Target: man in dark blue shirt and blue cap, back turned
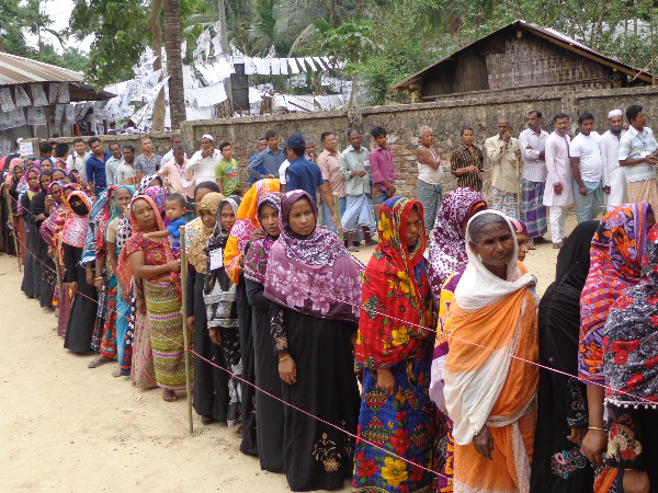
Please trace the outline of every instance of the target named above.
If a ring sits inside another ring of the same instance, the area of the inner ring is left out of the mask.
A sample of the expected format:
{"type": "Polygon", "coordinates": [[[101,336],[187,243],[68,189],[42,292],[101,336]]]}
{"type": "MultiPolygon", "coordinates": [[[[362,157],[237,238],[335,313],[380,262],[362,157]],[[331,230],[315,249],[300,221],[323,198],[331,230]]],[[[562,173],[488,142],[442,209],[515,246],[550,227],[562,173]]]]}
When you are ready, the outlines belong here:
{"type": "Polygon", "coordinates": [[[325,183],[320,167],[304,158],[304,153],[306,152],[306,141],[304,140],[304,137],[302,137],[302,134],[293,134],[284,146],[288,148],[287,159],[291,162],[291,165],[285,171],[285,190],[303,190],[308,193],[314,200],[316,200],[319,191],[322,200],[331,211],[333,227],[338,229],[339,223],[338,217],[336,216],[336,209],[333,208],[331,188],[329,188],[328,183],[325,183]]]}

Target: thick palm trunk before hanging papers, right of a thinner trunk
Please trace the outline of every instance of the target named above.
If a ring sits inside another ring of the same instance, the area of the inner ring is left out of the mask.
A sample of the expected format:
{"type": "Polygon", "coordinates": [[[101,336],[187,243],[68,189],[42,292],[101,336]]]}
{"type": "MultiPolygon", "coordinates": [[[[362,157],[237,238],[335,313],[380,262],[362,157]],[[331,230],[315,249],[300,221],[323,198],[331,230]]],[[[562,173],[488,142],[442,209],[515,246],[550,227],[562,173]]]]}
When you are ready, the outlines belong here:
{"type": "Polygon", "coordinates": [[[181,55],[181,2],[164,0],[164,49],[169,76],[169,113],[171,128],[179,129],[185,121],[185,92],[183,89],[183,58],[181,55]]]}

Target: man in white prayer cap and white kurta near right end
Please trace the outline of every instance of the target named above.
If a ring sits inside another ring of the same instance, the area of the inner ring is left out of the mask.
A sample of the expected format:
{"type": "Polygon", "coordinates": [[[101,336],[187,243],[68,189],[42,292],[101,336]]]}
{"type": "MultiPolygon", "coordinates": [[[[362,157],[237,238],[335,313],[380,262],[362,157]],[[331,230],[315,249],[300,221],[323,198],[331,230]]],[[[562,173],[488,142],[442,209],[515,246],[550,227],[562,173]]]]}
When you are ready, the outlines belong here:
{"type": "Polygon", "coordinates": [[[612,110],[608,113],[610,128],[601,136],[601,158],[603,167],[608,171],[608,185],[610,193],[606,194],[608,210],[614,209],[620,204],[626,204],[628,194],[626,192],[626,174],[620,167],[620,140],[626,133],[624,129],[624,114],[621,110],[612,110]]]}

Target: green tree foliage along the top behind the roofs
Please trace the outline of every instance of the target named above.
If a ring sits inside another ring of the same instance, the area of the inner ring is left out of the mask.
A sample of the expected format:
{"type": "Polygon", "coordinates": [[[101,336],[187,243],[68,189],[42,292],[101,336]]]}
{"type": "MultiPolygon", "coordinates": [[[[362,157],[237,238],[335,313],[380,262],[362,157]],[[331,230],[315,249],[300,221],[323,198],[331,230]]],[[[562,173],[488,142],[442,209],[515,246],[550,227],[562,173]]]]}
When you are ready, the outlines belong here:
{"type": "MultiPolygon", "coordinates": [[[[76,53],[65,53],[58,58],[46,44],[35,49],[25,43],[27,32],[38,34],[50,30],[49,20],[38,14],[39,1],[43,0],[0,0],[0,49],[83,68],[90,78],[104,84],[129,78],[132,65],[151,43],[147,19],[150,1],[75,0],[70,32],[79,38],[93,34],[95,42],[87,65],[76,53]]],[[[247,55],[263,56],[274,47],[281,57],[332,55],[349,61],[349,72],[359,73],[373,104],[394,98],[386,93],[393,83],[517,19],[553,27],[636,67],[648,68],[650,62],[647,24],[653,2],[649,0],[225,0],[223,7],[218,3],[217,0],[181,1],[181,26],[183,38],[189,42],[189,54],[194,49],[196,36],[224,16],[228,42],[247,55]],[[637,33],[628,30],[627,21],[635,19],[644,22],[637,33]],[[354,46],[354,51],[363,55],[356,61],[353,61],[356,55],[350,54],[354,46]]]]}

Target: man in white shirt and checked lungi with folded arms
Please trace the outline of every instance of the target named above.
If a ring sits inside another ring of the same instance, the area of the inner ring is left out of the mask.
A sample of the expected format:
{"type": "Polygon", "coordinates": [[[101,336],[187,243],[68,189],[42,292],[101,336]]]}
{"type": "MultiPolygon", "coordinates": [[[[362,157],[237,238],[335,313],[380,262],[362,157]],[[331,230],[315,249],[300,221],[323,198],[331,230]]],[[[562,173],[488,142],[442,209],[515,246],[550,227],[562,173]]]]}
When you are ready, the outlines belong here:
{"type": "Polygon", "coordinates": [[[535,249],[534,242],[543,240],[547,232],[544,185],[546,183],[546,161],[544,149],[548,133],[542,129],[542,112],[533,110],[527,114],[527,128],[519,136],[519,149],[523,171],[521,173],[521,220],[527,226],[527,248],[535,249]]]}

